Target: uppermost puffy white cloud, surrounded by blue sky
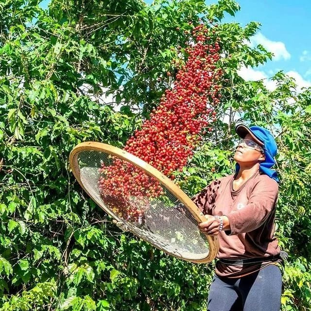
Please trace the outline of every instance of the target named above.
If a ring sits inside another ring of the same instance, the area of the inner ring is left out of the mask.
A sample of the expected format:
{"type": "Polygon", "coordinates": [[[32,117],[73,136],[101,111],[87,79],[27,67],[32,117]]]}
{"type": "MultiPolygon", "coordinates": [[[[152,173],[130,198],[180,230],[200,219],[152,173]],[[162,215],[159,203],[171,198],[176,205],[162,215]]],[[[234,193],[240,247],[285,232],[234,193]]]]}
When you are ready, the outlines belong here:
{"type": "Polygon", "coordinates": [[[291,58],[291,54],[286,50],[285,44],[281,41],[269,40],[261,33],[258,33],[250,38],[250,45],[255,47],[258,44],[261,44],[268,52],[274,54],[273,60],[287,60],[291,58]]]}

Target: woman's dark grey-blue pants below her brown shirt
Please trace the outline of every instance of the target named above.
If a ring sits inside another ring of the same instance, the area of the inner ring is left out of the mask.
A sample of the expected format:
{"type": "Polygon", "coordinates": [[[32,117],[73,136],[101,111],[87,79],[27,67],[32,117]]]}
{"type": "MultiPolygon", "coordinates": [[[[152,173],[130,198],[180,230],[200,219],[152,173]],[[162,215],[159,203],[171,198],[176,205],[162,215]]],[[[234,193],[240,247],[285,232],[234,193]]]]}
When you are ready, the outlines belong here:
{"type": "Polygon", "coordinates": [[[279,311],[282,274],[270,264],[240,278],[214,276],[207,311],[279,311]]]}

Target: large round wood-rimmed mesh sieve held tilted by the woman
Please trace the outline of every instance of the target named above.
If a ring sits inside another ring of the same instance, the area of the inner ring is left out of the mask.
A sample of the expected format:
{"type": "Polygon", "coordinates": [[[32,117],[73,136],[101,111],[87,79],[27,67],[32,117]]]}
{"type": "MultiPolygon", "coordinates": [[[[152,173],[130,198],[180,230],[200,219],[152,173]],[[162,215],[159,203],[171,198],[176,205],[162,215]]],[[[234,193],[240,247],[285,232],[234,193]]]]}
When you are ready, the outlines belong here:
{"type": "Polygon", "coordinates": [[[142,240],[174,257],[209,262],[217,237],[203,234],[204,215],[169,178],[135,155],[99,142],[78,144],[69,157],[87,194],[142,240]]]}

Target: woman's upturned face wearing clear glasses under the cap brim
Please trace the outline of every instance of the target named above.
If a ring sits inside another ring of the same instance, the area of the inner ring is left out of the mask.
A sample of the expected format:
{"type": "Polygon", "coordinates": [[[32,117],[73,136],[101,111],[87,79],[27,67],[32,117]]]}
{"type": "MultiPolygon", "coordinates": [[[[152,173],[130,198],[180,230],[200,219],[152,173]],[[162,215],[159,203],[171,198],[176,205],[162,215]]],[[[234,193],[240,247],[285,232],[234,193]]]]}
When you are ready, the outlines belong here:
{"type": "MultiPolygon", "coordinates": [[[[247,134],[244,139],[255,141],[250,134],[247,134]]],[[[264,154],[257,149],[249,148],[241,142],[236,149],[234,160],[240,164],[240,166],[253,166],[265,159],[264,154]]]]}

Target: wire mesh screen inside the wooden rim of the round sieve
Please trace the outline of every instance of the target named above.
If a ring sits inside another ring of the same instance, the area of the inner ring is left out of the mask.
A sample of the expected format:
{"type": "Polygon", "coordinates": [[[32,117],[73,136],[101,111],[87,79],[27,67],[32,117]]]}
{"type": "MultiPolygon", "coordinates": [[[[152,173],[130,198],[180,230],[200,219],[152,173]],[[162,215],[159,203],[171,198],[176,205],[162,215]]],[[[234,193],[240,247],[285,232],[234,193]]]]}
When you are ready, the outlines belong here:
{"type": "Polygon", "coordinates": [[[130,231],[184,259],[205,259],[207,238],[179,199],[141,168],[115,155],[81,151],[75,158],[91,198],[130,231]]]}

